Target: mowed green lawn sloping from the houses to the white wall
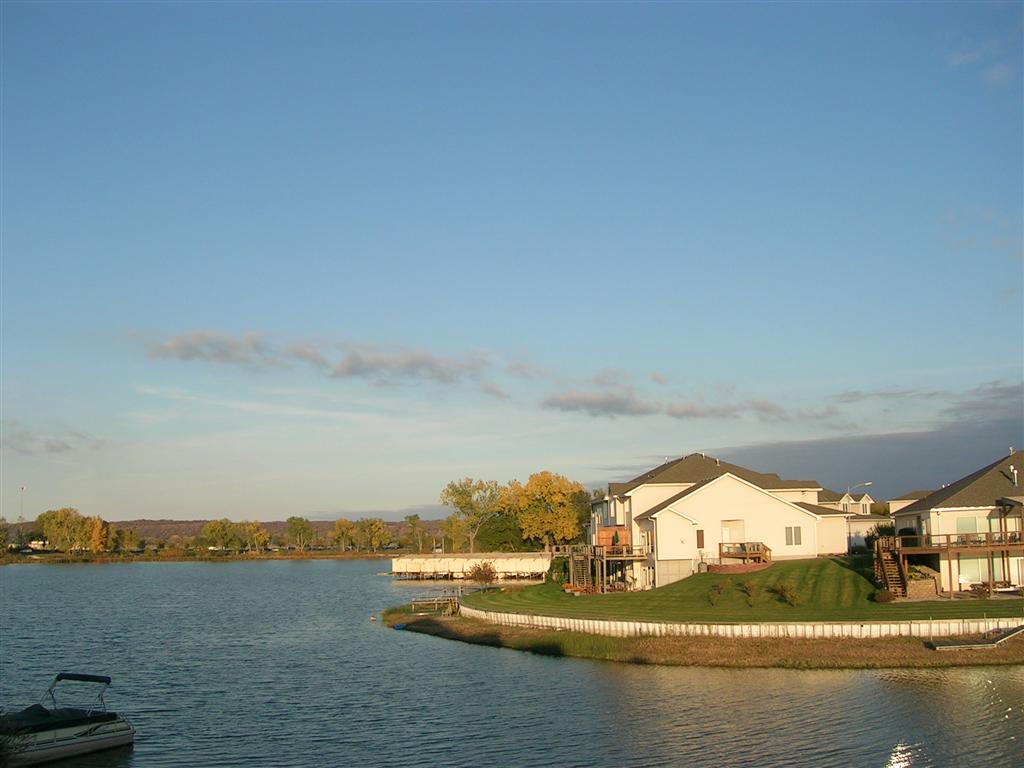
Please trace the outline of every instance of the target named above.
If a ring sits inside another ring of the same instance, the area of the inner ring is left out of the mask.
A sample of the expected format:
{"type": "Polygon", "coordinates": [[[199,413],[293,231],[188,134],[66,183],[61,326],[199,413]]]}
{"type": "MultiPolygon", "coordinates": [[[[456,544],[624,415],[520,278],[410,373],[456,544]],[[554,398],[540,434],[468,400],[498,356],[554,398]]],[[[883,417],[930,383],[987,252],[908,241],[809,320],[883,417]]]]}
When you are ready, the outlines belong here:
{"type": "Polygon", "coordinates": [[[698,573],[647,592],[574,597],[548,583],[476,593],[464,602],[481,610],[640,622],[886,622],[985,615],[1021,616],[1024,622],[1024,599],[1020,598],[872,602],[876,589],[865,577],[865,565],[869,568],[869,560],[787,560],[756,573],[698,573]],[[742,591],[744,583],[754,587],[753,605],[742,591]],[[796,588],[797,605],[790,605],[773,591],[783,583],[796,588]],[[716,586],[724,589],[713,605],[716,586]]]}

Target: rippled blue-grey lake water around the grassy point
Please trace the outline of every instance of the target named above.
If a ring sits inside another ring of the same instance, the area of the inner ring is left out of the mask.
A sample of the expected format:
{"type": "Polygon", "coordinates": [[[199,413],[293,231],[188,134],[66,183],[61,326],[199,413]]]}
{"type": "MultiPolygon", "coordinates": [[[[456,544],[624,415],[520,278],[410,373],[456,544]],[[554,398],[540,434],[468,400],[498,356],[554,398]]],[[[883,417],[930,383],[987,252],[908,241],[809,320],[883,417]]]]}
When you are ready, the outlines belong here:
{"type": "Polygon", "coordinates": [[[134,752],[66,766],[1024,765],[1024,667],[731,671],[535,656],[370,621],[387,561],[0,568],[0,702],[111,675],[134,752]]]}

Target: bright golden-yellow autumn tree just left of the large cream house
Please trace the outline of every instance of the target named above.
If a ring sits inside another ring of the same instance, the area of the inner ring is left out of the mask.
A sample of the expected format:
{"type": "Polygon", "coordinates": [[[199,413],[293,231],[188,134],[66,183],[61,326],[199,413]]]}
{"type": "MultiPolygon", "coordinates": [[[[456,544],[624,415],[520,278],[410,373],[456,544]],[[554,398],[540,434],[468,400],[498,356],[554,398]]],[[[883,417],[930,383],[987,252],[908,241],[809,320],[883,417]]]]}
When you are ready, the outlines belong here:
{"type": "Polygon", "coordinates": [[[515,513],[523,539],[544,542],[550,549],[581,534],[581,510],[589,507],[590,496],[579,482],[554,472],[536,472],[525,484],[509,483],[506,506],[515,513]]]}

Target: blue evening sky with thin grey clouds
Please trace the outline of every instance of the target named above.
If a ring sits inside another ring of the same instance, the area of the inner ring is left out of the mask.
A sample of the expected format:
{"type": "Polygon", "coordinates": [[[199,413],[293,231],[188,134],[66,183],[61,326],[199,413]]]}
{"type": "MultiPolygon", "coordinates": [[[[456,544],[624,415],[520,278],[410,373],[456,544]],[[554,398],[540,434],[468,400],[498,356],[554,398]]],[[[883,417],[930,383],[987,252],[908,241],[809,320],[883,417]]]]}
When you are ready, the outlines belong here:
{"type": "Polygon", "coordinates": [[[1018,3],[2,23],[8,519],[694,451],[887,496],[1024,444],[1018,3]]]}

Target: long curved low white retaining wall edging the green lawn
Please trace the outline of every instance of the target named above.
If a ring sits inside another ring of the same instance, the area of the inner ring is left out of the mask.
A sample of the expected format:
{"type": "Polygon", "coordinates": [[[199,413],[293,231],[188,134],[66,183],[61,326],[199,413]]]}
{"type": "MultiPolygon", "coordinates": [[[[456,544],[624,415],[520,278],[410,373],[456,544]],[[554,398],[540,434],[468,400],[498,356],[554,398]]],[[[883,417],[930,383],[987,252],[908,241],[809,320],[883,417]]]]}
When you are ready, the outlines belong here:
{"type": "Polygon", "coordinates": [[[506,627],[570,630],[591,635],[613,637],[792,637],[856,638],[873,637],[952,637],[979,635],[1024,624],[1018,618],[936,618],[918,622],[791,622],[786,624],[683,624],[679,622],[610,622],[600,618],[539,616],[529,613],[500,613],[462,605],[459,611],[470,618],[480,618],[506,627]]]}

